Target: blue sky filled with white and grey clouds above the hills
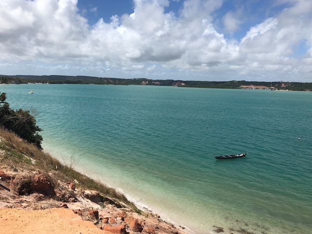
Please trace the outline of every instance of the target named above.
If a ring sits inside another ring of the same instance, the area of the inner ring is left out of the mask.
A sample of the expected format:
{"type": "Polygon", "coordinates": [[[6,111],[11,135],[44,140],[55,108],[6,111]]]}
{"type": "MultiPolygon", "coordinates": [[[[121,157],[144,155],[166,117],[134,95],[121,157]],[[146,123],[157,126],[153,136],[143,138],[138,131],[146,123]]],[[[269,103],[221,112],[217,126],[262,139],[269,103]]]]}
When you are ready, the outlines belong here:
{"type": "Polygon", "coordinates": [[[312,82],[312,0],[0,0],[0,74],[312,82]]]}

